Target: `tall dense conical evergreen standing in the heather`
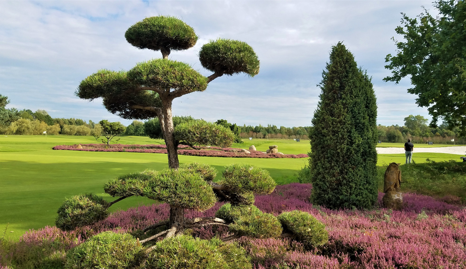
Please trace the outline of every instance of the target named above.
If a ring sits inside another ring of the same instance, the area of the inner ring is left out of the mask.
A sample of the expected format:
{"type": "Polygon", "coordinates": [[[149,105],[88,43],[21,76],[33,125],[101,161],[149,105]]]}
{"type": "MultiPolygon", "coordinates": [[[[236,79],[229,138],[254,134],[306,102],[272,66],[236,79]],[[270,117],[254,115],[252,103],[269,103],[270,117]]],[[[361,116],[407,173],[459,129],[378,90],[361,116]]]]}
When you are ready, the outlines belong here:
{"type": "Polygon", "coordinates": [[[370,80],[341,42],[332,47],[310,133],[316,205],[370,208],[377,200],[377,103],[370,80]]]}

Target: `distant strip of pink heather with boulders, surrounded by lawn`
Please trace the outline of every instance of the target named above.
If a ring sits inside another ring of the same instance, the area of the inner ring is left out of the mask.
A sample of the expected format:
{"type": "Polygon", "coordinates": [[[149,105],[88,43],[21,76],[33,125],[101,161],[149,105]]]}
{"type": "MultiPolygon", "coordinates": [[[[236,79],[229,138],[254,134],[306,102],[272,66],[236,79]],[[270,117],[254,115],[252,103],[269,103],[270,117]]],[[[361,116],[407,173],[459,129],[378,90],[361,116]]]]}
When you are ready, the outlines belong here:
{"type": "MultiPolygon", "coordinates": [[[[69,151],[84,151],[84,152],[142,152],[142,153],[167,153],[165,145],[106,145],[106,144],[84,144],[82,149],[76,148],[78,145],[56,145],[54,150],[69,150],[69,151]]],[[[220,148],[210,147],[201,150],[195,150],[187,145],[178,145],[179,155],[189,156],[204,156],[204,157],[226,157],[226,158],[307,158],[307,154],[278,154],[278,153],[263,153],[259,151],[249,151],[249,153],[241,152],[237,148],[220,148]]]]}

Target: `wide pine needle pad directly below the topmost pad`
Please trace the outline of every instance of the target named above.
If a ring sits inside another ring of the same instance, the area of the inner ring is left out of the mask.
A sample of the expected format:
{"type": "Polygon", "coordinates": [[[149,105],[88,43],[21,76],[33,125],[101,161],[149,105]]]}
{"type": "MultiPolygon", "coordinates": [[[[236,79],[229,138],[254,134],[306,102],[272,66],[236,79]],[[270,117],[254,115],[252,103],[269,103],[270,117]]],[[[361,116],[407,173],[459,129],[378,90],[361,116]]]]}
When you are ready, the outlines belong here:
{"type": "Polygon", "coordinates": [[[182,90],[190,93],[204,91],[207,78],[184,62],[169,59],[152,59],[139,62],[128,71],[131,82],[162,90],[182,90]]]}

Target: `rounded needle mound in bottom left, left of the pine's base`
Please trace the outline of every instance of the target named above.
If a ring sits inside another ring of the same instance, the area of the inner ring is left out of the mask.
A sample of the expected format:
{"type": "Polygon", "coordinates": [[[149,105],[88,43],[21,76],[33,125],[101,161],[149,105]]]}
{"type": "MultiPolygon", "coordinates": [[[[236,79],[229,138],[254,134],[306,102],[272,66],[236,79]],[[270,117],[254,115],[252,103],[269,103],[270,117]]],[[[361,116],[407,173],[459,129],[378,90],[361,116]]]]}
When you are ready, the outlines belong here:
{"type": "Polygon", "coordinates": [[[129,234],[94,235],[67,253],[67,269],[133,269],[144,260],[144,247],[129,234]]]}

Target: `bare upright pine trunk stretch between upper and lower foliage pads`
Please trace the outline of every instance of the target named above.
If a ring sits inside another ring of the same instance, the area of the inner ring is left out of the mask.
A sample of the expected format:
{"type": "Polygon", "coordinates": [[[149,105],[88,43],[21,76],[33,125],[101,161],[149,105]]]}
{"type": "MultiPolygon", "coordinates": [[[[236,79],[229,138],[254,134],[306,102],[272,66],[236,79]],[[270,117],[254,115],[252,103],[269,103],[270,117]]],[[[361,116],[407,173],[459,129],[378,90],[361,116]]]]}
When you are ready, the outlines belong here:
{"type": "Polygon", "coordinates": [[[173,119],[171,115],[171,99],[162,99],[162,110],[164,114],[164,138],[167,146],[168,167],[178,169],[178,145],[175,143],[175,133],[173,128],[173,119]]]}

